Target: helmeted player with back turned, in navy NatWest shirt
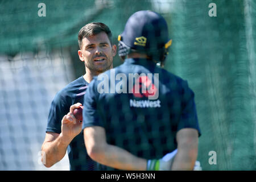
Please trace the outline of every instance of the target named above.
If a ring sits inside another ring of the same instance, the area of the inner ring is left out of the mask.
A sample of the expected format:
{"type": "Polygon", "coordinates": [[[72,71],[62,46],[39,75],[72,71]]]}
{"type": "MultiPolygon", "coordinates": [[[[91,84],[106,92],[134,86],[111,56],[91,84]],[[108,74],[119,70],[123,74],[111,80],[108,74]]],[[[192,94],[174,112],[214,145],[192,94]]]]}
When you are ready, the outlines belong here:
{"type": "Polygon", "coordinates": [[[125,62],[94,78],[84,96],[88,155],[110,170],[192,170],[201,135],[194,93],[156,66],[172,43],[166,20],[138,11],[118,41],[125,62]]]}

